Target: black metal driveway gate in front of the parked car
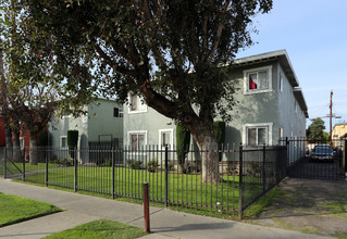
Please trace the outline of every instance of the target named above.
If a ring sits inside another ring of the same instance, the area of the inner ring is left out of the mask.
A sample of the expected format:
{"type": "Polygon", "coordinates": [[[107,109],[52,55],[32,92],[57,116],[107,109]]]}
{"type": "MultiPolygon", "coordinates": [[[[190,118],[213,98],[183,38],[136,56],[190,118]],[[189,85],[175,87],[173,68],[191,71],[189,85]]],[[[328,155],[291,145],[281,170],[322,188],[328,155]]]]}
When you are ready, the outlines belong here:
{"type": "Polygon", "coordinates": [[[288,176],[326,180],[345,179],[345,150],[343,140],[287,140],[288,176]]]}

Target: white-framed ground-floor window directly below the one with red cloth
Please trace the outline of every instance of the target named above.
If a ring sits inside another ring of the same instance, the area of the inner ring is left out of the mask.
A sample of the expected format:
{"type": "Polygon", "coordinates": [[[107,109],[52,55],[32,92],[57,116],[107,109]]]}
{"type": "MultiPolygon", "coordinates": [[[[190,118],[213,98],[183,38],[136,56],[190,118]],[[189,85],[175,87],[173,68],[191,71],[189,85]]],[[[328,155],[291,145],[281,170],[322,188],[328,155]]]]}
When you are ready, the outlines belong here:
{"type": "Polygon", "coordinates": [[[246,146],[272,144],[272,123],[244,125],[244,141],[246,146]]]}

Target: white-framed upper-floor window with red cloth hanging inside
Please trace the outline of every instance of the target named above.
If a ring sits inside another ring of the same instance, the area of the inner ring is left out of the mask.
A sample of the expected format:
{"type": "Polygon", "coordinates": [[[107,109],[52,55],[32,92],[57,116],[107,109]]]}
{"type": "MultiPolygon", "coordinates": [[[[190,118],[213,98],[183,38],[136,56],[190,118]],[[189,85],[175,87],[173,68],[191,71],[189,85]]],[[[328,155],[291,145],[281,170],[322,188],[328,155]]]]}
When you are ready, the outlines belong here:
{"type": "Polygon", "coordinates": [[[244,71],[245,95],[272,91],[272,66],[244,71]]]}

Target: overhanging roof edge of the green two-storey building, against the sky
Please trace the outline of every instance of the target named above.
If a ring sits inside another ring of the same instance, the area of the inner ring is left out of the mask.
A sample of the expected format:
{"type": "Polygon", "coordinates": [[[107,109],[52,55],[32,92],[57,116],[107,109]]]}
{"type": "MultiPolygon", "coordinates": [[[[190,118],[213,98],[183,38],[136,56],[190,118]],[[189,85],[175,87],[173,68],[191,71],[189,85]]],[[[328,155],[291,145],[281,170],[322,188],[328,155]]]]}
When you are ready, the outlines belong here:
{"type": "Polygon", "coordinates": [[[256,54],[256,55],[250,55],[250,56],[246,56],[246,58],[240,58],[240,59],[235,60],[233,62],[233,64],[237,65],[237,66],[244,66],[244,65],[252,65],[252,64],[257,64],[257,63],[275,61],[275,60],[277,60],[280,62],[284,73],[286,74],[286,76],[289,80],[289,84],[293,87],[294,97],[298,101],[301,110],[305,113],[305,116],[309,117],[308,108],[307,108],[307,104],[305,101],[302,89],[299,87],[299,81],[298,81],[297,76],[294,72],[294,67],[290,63],[290,60],[289,60],[289,56],[288,56],[286,50],[277,50],[277,51],[271,51],[271,52],[267,52],[267,53],[262,53],[262,54],[256,54]]]}

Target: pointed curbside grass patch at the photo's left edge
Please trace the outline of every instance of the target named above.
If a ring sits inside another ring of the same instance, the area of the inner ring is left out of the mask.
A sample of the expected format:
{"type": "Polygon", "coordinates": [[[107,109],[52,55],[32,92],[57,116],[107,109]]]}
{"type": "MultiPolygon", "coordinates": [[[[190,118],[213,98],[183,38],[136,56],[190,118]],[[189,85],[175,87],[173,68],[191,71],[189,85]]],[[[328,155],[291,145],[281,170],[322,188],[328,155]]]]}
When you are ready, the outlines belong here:
{"type": "Polygon", "coordinates": [[[0,192],[0,227],[61,211],[46,202],[0,192]]]}

